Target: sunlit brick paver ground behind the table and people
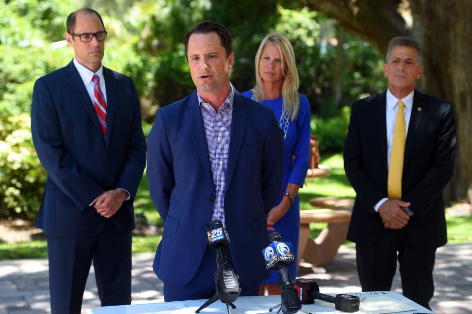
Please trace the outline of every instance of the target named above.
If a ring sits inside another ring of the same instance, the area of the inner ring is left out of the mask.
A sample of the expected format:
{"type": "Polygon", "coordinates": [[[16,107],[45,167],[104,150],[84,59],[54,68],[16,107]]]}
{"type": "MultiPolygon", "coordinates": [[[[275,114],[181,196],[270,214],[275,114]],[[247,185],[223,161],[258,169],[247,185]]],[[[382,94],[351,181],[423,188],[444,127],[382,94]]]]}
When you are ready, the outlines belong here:
{"type": "MultiPolygon", "coordinates": [[[[163,301],[162,282],[152,271],[154,254],[133,255],[132,300],[163,301]]],[[[314,278],[321,292],[357,292],[355,250],[341,246],[335,260],[325,267],[301,263],[298,276],[314,278]]],[[[437,314],[472,314],[472,244],[446,245],[438,250],[434,270],[436,291],[431,306],[437,314]]],[[[50,313],[47,259],[0,261],[0,314],[50,313]]],[[[401,293],[397,272],[392,289],[401,293]]],[[[82,313],[100,306],[93,267],[84,293],[82,313]]]]}

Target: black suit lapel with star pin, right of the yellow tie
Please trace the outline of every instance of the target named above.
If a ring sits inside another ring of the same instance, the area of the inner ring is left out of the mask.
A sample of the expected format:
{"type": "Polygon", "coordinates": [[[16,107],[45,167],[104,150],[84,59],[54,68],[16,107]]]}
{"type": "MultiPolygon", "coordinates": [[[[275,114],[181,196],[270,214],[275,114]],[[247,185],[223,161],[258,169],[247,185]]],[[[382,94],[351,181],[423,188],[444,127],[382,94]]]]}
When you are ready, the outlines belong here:
{"type": "MultiPolygon", "coordinates": [[[[423,111],[427,110],[427,104],[423,102],[422,94],[414,90],[413,95],[413,107],[412,107],[412,114],[410,116],[410,124],[408,125],[408,132],[407,132],[407,140],[405,143],[405,156],[403,157],[403,170],[407,169],[407,164],[410,160],[412,155],[413,145],[416,141],[416,137],[420,130],[421,121],[423,119],[423,111]],[[418,107],[422,107],[421,111],[418,111],[418,107]]],[[[403,173],[405,175],[405,173],[403,173]]],[[[403,176],[405,177],[405,176],[403,176]]]]}

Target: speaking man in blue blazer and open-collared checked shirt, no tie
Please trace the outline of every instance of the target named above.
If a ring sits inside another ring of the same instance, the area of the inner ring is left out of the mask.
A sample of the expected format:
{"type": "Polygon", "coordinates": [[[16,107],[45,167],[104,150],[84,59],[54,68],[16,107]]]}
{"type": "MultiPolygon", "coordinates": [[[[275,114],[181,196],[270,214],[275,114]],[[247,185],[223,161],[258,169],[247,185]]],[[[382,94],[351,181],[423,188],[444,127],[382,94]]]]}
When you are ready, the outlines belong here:
{"type": "Polygon", "coordinates": [[[240,295],[257,295],[269,277],[262,250],[266,215],[282,184],[283,134],[270,108],[231,85],[231,41],[227,29],[210,21],[186,34],[197,90],[159,109],[148,137],[149,194],[165,223],[153,268],[165,301],[213,295],[212,219],[229,233],[228,264],[241,280],[240,295]]]}

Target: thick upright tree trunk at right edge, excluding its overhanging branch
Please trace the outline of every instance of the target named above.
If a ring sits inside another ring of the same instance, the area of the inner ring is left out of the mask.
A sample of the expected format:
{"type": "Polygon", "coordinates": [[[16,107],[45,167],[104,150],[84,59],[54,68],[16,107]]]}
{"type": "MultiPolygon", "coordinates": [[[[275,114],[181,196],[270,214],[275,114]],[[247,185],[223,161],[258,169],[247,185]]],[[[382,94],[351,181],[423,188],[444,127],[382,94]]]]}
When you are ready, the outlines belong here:
{"type": "Polygon", "coordinates": [[[411,0],[413,34],[423,49],[424,91],[453,103],[456,171],[447,194],[472,201],[472,6],[470,0],[411,0]]]}

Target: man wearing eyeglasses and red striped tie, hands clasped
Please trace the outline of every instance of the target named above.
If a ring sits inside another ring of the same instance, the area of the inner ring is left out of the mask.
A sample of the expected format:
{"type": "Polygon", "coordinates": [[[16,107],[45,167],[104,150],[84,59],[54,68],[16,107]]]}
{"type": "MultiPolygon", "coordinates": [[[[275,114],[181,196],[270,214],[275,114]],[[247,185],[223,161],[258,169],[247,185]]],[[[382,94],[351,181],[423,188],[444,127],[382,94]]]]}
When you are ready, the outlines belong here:
{"type": "Polygon", "coordinates": [[[133,81],[105,68],[107,31],[89,8],[67,18],[74,59],[39,78],[31,132],[48,173],[36,226],[47,235],[52,314],[79,314],[91,261],[102,306],[131,304],[133,200],[146,142],[133,81]]]}

